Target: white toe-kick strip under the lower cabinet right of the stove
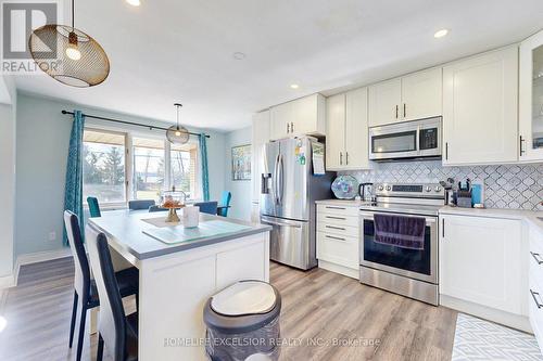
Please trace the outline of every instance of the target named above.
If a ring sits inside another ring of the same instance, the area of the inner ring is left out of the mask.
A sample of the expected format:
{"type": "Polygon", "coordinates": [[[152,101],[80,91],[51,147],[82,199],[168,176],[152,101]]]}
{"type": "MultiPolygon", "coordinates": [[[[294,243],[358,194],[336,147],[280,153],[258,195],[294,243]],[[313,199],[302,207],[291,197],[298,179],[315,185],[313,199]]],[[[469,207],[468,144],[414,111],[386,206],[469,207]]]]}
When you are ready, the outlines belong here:
{"type": "Polygon", "coordinates": [[[440,295],[440,306],[449,307],[464,313],[472,314],[480,319],[489,320],[512,328],[533,334],[532,327],[530,326],[530,321],[526,315],[496,310],[494,308],[477,305],[446,295],[440,295]]]}

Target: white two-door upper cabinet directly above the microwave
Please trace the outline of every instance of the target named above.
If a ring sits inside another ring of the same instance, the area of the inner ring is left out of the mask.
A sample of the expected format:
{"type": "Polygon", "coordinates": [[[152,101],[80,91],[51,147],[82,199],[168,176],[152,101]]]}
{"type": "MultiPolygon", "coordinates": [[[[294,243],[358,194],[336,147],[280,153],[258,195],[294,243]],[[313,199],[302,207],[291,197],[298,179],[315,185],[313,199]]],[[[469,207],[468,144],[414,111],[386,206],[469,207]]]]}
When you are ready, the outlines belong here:
{"type": "Polygon", "coordinates": [[[369,87],[369,126],[440,116],[441,68],[432,68],[369,87]]]}

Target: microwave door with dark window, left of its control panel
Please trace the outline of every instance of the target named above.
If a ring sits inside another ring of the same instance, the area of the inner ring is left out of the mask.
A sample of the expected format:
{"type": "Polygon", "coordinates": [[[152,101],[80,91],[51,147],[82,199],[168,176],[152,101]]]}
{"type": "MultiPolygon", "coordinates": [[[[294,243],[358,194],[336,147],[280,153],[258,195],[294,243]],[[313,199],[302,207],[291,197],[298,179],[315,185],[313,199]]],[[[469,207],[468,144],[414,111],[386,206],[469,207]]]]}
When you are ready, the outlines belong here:
{"type": "Polygon", "coordinates": [[[390,159],[417,157],[418,125],[400,124],[369,129],[369,158],[390,159]]]}

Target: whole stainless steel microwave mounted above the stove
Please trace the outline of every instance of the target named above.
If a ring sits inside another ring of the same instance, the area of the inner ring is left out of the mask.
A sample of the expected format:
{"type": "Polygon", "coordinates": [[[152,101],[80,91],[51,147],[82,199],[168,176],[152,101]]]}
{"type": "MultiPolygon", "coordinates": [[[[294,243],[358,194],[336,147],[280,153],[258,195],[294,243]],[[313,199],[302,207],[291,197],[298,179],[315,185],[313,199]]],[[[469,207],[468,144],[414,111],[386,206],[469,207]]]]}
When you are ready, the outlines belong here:
{"type": "Polygon", "coordinates": [[[369,128],[369,159],[441,157],[441,117],[369,128]]]}

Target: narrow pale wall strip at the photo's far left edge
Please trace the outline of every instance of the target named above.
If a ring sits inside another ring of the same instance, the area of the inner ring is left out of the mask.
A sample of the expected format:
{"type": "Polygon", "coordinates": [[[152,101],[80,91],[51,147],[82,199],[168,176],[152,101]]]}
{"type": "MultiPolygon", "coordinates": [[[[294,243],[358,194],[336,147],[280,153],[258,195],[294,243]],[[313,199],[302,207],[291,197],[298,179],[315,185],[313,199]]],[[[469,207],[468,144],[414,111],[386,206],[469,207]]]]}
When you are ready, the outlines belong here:
{"type": "MultiPolygon", "coordinates": [[[[15,234],[15,125],[16,90],[12,79],[0,77],[0,279],[13,271],[15,234]]],[[[7,279],[7,280],[8,280],[7,279]]],[[[9,281],[8,281],[9,282],[9,281]]]]}

